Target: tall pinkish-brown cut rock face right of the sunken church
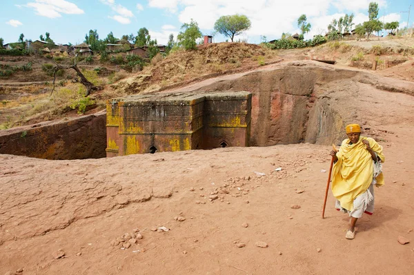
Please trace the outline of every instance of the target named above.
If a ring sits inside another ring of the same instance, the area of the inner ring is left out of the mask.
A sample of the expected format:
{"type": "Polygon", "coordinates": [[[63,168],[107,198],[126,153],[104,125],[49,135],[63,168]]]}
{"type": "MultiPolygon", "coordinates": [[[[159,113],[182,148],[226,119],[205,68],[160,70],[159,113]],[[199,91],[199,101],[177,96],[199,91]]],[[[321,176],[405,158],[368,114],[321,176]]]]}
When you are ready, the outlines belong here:
{"type": "Polygon", "coordinates": [[[276,70],[253,72],[238,79],[206,85],[199,91],[248,91],[253,93],[250,145],[318,143],[339,139],[342,117],[319,102],[319,86],[351,79],[359,72],[291,63],[276,70]]]}

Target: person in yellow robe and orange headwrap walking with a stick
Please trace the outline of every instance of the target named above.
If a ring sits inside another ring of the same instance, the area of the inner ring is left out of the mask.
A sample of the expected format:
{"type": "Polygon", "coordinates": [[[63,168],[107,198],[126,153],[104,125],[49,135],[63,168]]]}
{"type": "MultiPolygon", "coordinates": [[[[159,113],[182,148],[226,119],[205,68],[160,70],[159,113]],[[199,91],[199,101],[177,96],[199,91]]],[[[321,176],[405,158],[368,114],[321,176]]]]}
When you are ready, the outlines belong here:
{"type": "Polygon", "coordinates": [[[351,216],[346,238],[355,238],[355,224],[362,214],[373,214],[374,189],[384,185],[382,146],[374,139],[361,136],[357,124],[346,126],[348,139],[342,141],[338,152],[331,151],[335,164],[332,170],[332,192],[337,198],[335,207],[351,216]]]}

